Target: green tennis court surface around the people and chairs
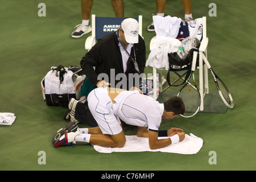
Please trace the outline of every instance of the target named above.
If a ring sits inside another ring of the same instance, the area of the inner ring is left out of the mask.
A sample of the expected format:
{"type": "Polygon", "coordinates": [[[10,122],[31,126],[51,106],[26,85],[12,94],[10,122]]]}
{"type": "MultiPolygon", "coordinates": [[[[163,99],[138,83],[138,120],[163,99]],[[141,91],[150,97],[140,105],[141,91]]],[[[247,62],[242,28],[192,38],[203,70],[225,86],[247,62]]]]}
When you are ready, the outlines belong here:
{"type": "MultiPolygon", "coordinates": [[[[193,18],[207,16],[208,60],[225,82],[234,109],[222,113],[198,113],[193,118],[164,121],[160,130],[179,127],[204,140],[195,155],[163,152],[114,152],[100,154],[90,144],[53,148],[51,139],[61,127],[66,109],[43,102],[40,81],[52,66],[80,66],[85,55],[86,34],[72,39],[73,27],[81,23],[80,1],[2,0],[0,6],[0,112],[16,115],[11,126],[0,125],[0,170],[255,170],[255,2],[238,0],[192,1],[193,18]],[[38,4],[46,4],[46,17],[38,16],[38,4]],[[217,16],[210,17],[209,3],[217,16]],[[39,164],[40,151],[46,164],[39,164]],[[217,164],[209,164],[211,151],[217,164]],[[210,155],[209,155],[210,154],[210,155]]],[[[155,1],[127,1],[125,16],[143,15],[147,55],[147,32],[155,13],[155,1]]],[[[94,1],[92,14],[114,16],[110,1],[94,1]]],[[[166,15],[184,18],[180,1],[167,1],[166,15]]],[[[151,73],[151,68],[146,68],[151,73]]],[[[198,73],[198,71],[196,71],[198,73]]],[[[210,93],[217,92],[209,75],[210,93]]],[[[172,88],[170,88],[172,91],[172,88]]],[[[169,90],[166,92],[170,92],[169,90]]],[[[218,95],[215,104],[223,105],[218,95]]],[[[210,103],[209,103],[210,104],[210,103]]],[[[207,106],[206,106],[207,107],[207,106]]],[[[79,125],[86,127],[85,125],[79,125]]],[[[134,127],[126,127],[134,135],[134,127]]]]}

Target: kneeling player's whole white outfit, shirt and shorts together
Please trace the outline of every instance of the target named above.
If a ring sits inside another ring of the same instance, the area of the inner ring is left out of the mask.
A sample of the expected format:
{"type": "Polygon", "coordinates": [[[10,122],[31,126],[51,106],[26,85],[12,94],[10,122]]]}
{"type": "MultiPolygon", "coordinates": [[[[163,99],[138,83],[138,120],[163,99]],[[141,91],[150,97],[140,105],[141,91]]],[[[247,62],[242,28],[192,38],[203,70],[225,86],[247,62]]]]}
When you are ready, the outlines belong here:
{"type": "Polygon", "coordinates": [[[106,88],[96,88],[88,95],[88,106],[103,134],[115,135],[122,131],[122,119],[128,125],[158,131],[162,122],[163,104],[136,91],[123,91],[114,98],[106,88]]]}

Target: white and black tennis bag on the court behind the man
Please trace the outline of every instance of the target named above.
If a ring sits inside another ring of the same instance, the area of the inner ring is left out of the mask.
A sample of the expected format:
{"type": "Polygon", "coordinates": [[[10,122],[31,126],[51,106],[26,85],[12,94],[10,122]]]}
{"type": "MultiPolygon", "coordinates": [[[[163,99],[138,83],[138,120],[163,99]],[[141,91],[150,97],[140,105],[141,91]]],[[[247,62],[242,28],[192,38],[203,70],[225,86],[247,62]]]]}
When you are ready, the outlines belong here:
{"type": "Polygon", "coordinates": [[[65,68],[63,65],[51,67],[41,81],[44,102],[48,106],[68,107],[69,100],[80,99],[81,86],[85,75],[78,67],[65,68]]]}

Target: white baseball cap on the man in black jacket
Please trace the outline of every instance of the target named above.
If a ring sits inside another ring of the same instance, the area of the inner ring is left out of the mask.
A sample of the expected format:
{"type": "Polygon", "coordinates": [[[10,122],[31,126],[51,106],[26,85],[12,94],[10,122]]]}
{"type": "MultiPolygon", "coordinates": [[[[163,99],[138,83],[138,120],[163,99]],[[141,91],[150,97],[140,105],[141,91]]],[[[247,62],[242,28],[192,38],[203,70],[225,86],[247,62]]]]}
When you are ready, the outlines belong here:
{"type": "Polygon", "coordinates": [[[134,18],[127,18],[121,24],[123,32],[125,32],[125,40],[127,43],[139,42],[139,23],[134,18]]]}

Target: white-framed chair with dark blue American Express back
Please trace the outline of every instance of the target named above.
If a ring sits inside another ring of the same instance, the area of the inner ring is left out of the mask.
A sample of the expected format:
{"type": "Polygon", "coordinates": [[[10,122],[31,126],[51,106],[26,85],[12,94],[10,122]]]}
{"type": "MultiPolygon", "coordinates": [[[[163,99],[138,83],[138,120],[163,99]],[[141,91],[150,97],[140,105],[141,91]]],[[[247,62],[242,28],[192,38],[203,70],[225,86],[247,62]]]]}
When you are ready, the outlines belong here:
{"type": "Polygon", "coordinates": [[[100,17],[93,14],[92,35],[85,40],[85,49],[89,51],[98,39],[117,31],[122,21],[126,18],[134,18],[139,22],[139,35],[142,36],[142,15],[137,17],[100,17]]]}

